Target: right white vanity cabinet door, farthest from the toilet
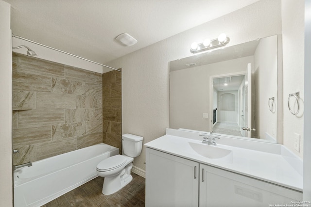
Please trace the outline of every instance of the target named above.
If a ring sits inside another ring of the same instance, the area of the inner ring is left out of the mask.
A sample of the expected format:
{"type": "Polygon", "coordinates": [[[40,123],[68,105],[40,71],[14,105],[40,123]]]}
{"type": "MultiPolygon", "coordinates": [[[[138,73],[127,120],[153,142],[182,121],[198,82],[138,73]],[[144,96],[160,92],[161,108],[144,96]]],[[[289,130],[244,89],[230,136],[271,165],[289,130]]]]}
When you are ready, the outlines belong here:
{"type": "Polygon", "coordinates": [[[301,201],[300,191],[200,164],[200,207],[269,207],[301,201]]]}

